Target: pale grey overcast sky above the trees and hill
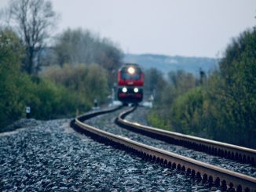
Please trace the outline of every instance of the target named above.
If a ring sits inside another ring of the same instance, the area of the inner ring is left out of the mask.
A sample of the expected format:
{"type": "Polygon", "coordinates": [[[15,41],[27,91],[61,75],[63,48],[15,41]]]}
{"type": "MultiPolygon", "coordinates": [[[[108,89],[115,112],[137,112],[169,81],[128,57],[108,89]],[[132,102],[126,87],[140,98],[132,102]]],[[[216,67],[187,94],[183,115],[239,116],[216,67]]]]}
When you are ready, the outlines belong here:
{"type": "Polygon", "coordinates": [[[89,29],[124,53],[221,56],[232,37],[256,26],[255,0],[51,1],[60,13],[57,31],[89,29]]]}

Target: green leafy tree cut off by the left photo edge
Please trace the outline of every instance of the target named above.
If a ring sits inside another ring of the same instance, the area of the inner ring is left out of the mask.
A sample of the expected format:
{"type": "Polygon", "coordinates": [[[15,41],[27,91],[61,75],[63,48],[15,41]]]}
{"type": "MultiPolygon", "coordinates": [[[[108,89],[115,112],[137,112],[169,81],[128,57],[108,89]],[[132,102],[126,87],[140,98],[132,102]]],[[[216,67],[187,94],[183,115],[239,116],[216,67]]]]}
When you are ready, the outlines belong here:
{"type": "Polygon", "coordinates": [[[13,31],[0,29],[0,128],[20,116],[23,46],[13,31]]]}

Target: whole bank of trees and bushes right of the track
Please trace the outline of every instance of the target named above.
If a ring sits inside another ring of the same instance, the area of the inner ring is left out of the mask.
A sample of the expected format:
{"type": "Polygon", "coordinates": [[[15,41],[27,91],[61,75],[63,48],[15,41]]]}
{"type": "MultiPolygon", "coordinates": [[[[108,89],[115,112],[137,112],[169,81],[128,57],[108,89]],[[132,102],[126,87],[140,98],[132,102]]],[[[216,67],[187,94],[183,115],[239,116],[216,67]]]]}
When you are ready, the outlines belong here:
{"type": "Polygon", "coordinates": [[[152,125],[256,147],[256,27],[233,38],[218,71],[199,78],[170,72],[167,80],[159,71],[152,74],[150,89],[158,94],[148,115],[152,125]]]}

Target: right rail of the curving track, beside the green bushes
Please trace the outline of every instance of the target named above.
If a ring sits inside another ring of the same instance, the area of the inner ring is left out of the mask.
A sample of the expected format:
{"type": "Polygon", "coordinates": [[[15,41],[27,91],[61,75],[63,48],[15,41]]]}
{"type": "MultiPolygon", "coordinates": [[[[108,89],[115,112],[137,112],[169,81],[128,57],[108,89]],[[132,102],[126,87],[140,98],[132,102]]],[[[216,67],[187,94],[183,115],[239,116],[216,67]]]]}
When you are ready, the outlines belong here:
{"type": "Polygon", "coordinates": [[[243,163],[256,164],[256,150],[247,147],[240,147],[229,143],[222,143],[210,139],[203,139],[196,136],[188,136],[178,132],[170,132],[163,129],[157,129],[146,125],[141,125],[137,122],[126,121],[124,118],[130,114],[136,107],[119,114],[116,122],[124,128],[134,132],[140,132],[144,135],[151,136],[155,139],[164,140],[168,143],[193,148],[207,152],[208,154],[218,155],[224,158],[237,160],[243,163]]]}

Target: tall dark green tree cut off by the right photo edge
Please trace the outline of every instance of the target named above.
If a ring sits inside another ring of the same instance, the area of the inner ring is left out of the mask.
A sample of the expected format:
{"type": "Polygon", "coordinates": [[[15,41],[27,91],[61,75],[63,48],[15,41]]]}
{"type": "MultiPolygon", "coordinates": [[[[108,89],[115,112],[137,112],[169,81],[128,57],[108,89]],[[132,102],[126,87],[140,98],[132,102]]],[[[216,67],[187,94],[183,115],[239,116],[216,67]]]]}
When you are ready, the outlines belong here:
{"type": "Polygon", "coordinates": [[[223,78],[219,100],[223,100],[222,125],[229,130],[230,141],[254,145],[256,137],[256,28],[233,39],[220,62],[223,78]]]}

